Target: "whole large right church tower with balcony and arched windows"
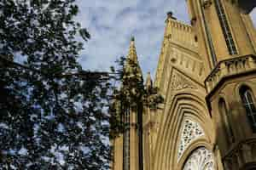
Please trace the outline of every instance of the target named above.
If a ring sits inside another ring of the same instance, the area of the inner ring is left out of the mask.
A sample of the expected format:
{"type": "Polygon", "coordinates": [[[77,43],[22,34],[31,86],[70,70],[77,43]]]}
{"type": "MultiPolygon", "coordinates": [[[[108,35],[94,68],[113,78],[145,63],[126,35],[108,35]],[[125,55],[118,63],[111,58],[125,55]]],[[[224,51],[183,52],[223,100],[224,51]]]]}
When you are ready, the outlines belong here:
{"type": "Polygon", "coordinates": [[[256,168],[256,32],[231,0],[188,0],[224,169],[256,168]]]}

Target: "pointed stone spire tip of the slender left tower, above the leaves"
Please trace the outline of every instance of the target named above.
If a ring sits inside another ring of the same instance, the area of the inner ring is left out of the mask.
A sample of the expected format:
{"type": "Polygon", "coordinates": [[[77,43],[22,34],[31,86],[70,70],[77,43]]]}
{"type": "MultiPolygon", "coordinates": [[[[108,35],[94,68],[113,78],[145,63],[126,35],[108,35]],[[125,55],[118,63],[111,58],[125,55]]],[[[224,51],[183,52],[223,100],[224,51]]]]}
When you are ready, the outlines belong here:
{"type": "Polygon", "coordinates": [[[137,60],[137,52],[135,47],[135,38],[131,37],[129,53],[125,63],[125,70],[131,73],[137,72],[137,76],[143,77],[142,70],[137,60]]]}

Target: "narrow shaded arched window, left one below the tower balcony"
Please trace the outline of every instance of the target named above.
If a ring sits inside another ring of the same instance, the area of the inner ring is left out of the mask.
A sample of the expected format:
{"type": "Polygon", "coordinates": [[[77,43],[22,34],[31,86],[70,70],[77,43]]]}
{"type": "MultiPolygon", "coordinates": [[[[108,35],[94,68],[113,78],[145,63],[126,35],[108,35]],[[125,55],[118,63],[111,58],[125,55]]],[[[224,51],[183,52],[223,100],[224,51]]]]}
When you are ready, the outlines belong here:
{"type": "Polygon", "coordinates": [[[232,143],[234,142],[234,133],[230,124],[230,112],[227,110],[227,105],[223,98],[219,99],[218,107],[224,122],[225,131],[229,137],[230,143],[232,143]]]}

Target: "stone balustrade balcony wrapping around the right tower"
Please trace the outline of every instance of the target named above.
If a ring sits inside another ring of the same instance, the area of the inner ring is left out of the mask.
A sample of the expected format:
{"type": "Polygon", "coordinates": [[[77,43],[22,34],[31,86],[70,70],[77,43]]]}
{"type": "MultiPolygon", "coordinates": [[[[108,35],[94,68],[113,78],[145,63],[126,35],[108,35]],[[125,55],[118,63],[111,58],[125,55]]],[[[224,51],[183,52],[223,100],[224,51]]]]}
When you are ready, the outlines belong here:
{"type": "Polygon", "coordinates": [[[256,56],[253,54],[220,61],[205,80],[207,93],[209,94],[213,88],[217,87],[224,77],[249,71],[256,71],[256,56]]]}

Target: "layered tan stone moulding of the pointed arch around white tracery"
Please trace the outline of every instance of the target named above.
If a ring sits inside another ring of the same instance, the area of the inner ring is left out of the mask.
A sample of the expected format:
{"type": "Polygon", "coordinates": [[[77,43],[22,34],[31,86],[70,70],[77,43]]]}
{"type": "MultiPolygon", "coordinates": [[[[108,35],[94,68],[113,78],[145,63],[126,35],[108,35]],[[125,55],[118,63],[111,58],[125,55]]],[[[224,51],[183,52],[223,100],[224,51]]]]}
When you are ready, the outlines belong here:
{"type": "MultiPolygon", "coordinates": [[[[204,138],[196,139],[191,144],[203,143],[203,145],[207,144],[209,149],[212,148],[216,137],[215,132],[212,132],[214,128],[204,96],[205,94],[200,90],[183,89],[174,94],[171,105],[166,105],[154,148],[154,169],[177,167],[177,145],[184,118],[190,117],[189,120],[199,123],[205,132],[204,138]]],[[[186,150],[183,153],[185,156],[188,154],[186,150]]],[[[183,159],[182,156],[181,161],[183,159]]]]}

